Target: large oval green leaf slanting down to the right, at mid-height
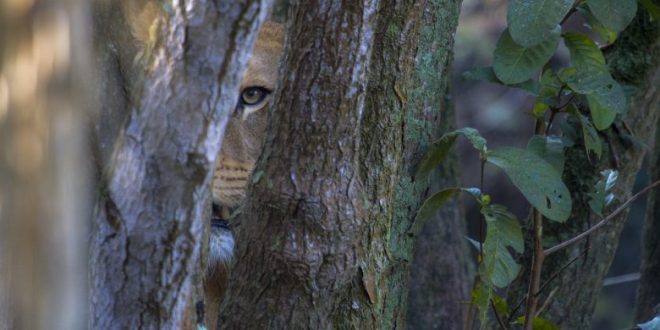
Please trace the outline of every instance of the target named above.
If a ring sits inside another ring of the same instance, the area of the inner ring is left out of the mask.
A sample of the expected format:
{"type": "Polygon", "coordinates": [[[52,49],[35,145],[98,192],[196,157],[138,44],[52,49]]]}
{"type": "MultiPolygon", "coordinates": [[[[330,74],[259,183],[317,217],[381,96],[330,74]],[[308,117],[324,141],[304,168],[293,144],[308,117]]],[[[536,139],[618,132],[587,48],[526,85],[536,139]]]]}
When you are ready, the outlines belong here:
{"type": "Polygon", "coordinates": [[[501,148],[488,153],[488,162],[501,168],[527,200],[550,220],[571,215],[571,196],[561,174],[543,158],[524,149],[501,148]]]}

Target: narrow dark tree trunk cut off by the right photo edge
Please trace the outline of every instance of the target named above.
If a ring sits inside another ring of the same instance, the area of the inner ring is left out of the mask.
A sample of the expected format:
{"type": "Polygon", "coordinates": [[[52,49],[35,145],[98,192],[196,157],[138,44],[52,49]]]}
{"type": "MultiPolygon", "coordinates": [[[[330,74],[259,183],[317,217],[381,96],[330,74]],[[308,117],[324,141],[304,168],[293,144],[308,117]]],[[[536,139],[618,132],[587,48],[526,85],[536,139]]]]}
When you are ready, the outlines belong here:
{"type": "MultiPolygon", "coordinates": [[[[660,70],[655,75],[655,88],[660,86],[660,70]]],[[[658,109],[656,102],[656,111],[658,109]]],[[[660,126],[660,119],[656,126],[660,126]]],[[[651,182],[660,180],[660,130],[655,132],[655,149],[651,157],[651,170],[649,171],[651,182]]],[[[647,321],[656,313],[659,313],[660,304],[660,192],[651,191],[648,196],[646,209],[646,222],[642,231],[644,245],[642,252],[642,269],[639,288],[637,289],[637,308],[635,320],[637,322],[647,321]]]]}

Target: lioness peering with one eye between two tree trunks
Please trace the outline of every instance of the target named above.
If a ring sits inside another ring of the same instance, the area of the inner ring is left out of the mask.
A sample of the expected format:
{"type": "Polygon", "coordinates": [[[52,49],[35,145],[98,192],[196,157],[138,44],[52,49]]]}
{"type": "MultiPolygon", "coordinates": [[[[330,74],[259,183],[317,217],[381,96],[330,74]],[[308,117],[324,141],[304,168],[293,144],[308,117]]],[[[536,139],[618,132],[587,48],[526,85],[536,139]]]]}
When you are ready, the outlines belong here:
{"type": "MultiPolygon", "coordinates": [[[[138,48],[146,50],[153,22],[163,15],[155,0],[123,0],[122,12],[138,48]]],[[[263,24],[240,84],[240,97],[225,130],[213,176],[214,216],[209,243],[209,269],[205,278],[206,320],[215,329],[219,306],[229,278],[234,238],[227,226],[229,210],[245,197],[248,178],[261,153],[268,119],[267,106],[277,83],[284,39],[280,24],[263,24]]]]}

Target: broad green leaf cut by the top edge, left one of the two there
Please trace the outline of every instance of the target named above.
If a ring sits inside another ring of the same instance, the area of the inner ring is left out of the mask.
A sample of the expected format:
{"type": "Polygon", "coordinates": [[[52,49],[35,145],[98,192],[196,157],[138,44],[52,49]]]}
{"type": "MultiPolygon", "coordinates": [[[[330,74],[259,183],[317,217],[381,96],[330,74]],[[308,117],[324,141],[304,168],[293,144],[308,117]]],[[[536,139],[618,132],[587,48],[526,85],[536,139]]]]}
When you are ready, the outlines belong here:
{"type": "Polygon", "coordinates": [[[513,40],[524,47],[541,43],[566,16],[574,0],[511,0],[507,22],[513,40]]]}

